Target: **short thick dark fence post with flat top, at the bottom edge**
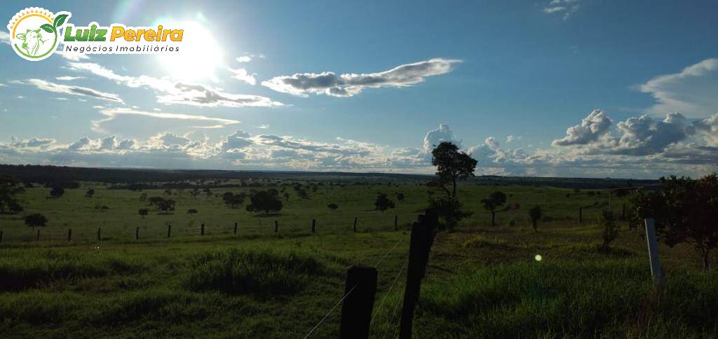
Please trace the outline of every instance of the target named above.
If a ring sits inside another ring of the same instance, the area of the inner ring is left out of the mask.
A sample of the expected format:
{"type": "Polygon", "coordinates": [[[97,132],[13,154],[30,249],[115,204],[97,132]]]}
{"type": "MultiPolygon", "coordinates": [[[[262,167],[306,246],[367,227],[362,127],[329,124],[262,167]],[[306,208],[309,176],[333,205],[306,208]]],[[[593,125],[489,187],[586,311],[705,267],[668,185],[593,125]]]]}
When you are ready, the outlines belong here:
{"type": "Polygon", "coordinates": [[[369,338],[371,313],[376,297],[375,267],[351,266],[347,269],[339,338],[369,338]]]}

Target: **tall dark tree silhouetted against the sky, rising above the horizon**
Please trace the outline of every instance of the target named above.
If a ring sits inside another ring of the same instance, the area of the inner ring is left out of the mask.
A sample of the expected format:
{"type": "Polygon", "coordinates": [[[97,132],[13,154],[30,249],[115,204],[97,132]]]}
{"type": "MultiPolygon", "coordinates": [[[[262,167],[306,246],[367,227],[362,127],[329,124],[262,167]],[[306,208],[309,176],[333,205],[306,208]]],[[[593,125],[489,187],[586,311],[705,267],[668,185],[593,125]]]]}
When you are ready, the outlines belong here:
{"type": "Polygon", "coordinates": [[[456,198],[457,181],[474,176],[476,160],[464,152],[454,143],[444,141],[432,151],[432,165],[437,166],[437,176],[434,186],[443,188],[449,198],[456,198]],[[446,185],[451,183],[449,191],[446,185]]]}

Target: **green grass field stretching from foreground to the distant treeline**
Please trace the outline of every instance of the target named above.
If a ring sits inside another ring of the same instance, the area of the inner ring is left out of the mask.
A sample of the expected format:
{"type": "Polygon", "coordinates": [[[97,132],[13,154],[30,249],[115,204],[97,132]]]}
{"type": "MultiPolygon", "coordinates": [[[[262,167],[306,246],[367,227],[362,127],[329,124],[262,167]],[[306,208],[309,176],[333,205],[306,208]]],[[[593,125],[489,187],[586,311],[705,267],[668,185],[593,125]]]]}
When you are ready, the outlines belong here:
{"type": "MultiPolygon", "coordinates": [[[[223,204],[225,191],[249,188],[213,189],[213,196],[195,198],[189,190],[167,196],[161,190],[83,183],[59,199],[46,199],[47,188],[28,188],[20,196],[25,211],[0,216],[0,337],[303,337],[342,297],[346,267],[377,262],[372,335],[396,336],[407,229],[426,206],[428,188],[325,184],[310,192],[310,199],[299,199],[292,186],[274,188],[286,189],[290,197],[280,214],[270,216],[223,204]],[[88,187],[95,188],[92,198],[84,196],[88,187]],[[396,209],[376,211],[377,192],[388,194],[396,209]],[[405,201],[396,200],[398,192],[405,201]],[[143,193],[176,200],[175,211],[150,208],[141,218],[143,193]],[[330,203],[339,209],[330,210],[330,203]],[[22,216],[31,213],[50,220],[39,241],[37,228],[23,224],[22,216]],[[355,217],[358,233],[352,230],[355,217]],[[312,219],[317,234],[310,231],[312,219]],[[200,224],[206,226],[204,236],[200,224]]],[[[416,338],[718,333],[718,273],[701,272],[693,249],[661,245],[666,271],[661,294],[653,289],[640,231],[629,231],[622,222],[611,249],[600,250],[597,216],[606,208],[620,214],[623,205],[614,196],[609,207],[607,191],[464,185],[459,196],[474,214],[454,231],[437,235],[416,310],[416,338]],[[496,190],[508,195],[510,208],[498,212],[497,225],[490,226],[480,199],[496,190]],[[536,204],[545,211],[538,232],[527,217],[536,204]]],[[[338,330],[337,311],[314,335],[335,338],[338,330]]]]}

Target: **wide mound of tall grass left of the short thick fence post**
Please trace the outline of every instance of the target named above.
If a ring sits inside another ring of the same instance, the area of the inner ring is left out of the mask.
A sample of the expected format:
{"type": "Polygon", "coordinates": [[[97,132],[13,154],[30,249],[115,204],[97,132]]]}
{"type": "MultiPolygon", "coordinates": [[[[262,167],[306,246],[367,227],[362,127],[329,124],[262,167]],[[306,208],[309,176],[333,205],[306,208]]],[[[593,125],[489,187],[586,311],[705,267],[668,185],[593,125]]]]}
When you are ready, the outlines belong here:
{"type": "Polygon", "coordinates": [[[308,275],[322,270],[316,259],[294,252],[228,249],[192,258],[183,285],[233,295],[292,295],[302,289],[308,275]]]}

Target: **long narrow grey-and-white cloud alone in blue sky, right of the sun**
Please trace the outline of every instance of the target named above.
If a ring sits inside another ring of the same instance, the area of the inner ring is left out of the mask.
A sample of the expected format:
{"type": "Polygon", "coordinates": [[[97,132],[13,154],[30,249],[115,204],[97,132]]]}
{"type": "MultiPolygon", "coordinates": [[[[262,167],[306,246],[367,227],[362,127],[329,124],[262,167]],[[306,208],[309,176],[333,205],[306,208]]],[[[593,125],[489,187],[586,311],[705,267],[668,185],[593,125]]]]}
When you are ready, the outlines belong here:
{"type": "Polygon", "coordinates": [[[423,82],[424,78],[451,72],[457,59],[429,59],[412,64],[399,65],[391,70],[376,73],[335,72],[297,73],[273,77],[262,82],[263,86],[277,92],[307,97],[309,94],[325,94],[334,97],[352,97],[365,88],[407,87],[423,82]]]}

